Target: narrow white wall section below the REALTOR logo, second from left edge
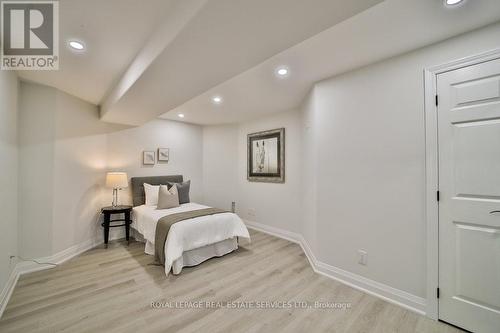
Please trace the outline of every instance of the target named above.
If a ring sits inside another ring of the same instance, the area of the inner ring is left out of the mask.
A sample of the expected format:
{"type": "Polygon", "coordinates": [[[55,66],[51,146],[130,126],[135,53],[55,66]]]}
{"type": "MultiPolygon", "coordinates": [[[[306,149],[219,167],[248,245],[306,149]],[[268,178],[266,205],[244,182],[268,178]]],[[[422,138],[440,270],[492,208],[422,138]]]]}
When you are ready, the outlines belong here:
{"type": "Polygon", "coordinates": [[[56,90],[21,82],[19,92],[19,254],[52,251],[56,90]]]}

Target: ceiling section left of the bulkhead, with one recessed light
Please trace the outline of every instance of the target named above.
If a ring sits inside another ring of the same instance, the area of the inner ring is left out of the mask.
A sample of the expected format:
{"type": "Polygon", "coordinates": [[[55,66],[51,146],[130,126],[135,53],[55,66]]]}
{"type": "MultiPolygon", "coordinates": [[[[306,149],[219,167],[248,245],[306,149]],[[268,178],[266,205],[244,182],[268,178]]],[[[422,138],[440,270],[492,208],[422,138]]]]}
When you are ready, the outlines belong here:
{"type": "Polygon", "coordinates": [[[173,0],[61,0],[59,70],[19,71],[19,77],[99,104],[172,3],[173,0]],[[70,50],[70,39],[84,41],[86,52],[70,50]]]}

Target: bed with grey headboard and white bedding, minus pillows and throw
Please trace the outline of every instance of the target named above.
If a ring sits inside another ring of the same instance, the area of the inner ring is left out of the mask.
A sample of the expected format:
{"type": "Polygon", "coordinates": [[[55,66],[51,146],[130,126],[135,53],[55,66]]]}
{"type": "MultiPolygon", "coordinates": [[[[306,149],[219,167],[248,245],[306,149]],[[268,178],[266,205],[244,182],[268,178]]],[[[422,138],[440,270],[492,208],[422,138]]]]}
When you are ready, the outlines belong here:
{"type": "MultiPolygon", "coordinates": [[[[166,185],[182,183],[181,175],[134,177],[132,183],[132,228],[136,240],[144,242],[144,252],[155,254],[155,232],[158,221],[170,214],[208,208],[194,202],[170,209],[145,205],[144,183],[166,185]]],[[[250,240],[248,230],[238,215],[230,212],[200,216],[171,226],[165,241],[165,274],[180,274],[183,267],[196,266],[238,249],[238,238],[250,240]]]]}

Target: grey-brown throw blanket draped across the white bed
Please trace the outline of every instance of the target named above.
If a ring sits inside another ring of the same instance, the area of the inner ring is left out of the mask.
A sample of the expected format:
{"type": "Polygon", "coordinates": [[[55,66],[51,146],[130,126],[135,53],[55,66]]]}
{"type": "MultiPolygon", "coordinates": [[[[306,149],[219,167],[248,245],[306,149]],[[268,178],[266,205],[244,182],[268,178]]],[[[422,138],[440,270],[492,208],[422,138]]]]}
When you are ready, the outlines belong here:
{"type": "Polygon", "coordinates": [[[162,217],[156,224],[155,232],[155,261],[157,264],[165,265],[165,242],[167,241],[168,232],[170,227],[177,222],[194,219],[196,217],[222,214],[227,211],[219,208],[205,208],[198,210],[191,210],[188,212],[176,213],[162,217]]]}

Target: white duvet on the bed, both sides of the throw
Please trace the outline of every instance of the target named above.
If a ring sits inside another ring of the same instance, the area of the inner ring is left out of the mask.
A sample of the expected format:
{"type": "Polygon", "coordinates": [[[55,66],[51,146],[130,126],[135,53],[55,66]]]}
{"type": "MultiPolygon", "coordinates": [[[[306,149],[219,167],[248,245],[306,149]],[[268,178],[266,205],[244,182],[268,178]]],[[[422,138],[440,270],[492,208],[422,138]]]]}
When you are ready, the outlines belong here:
{"type": "MultiPolygon", "coordinates": [[[[133,210],[132,227],[147,241],[146,253],[154,250],[156,223],[164,216],[209,208],[194,202],[176,208],[156,209],[156,206],[137,206],[133,210]],[[149,248],[149,251],[148,251],[149,248]]],[[[174,223],[165,242],[165,274],[168,275],[172,264],[185,251],[215,244],[233,237],[250,238],[248,230],[238,215],[223,213],[201,216],[174,223]]]]}

